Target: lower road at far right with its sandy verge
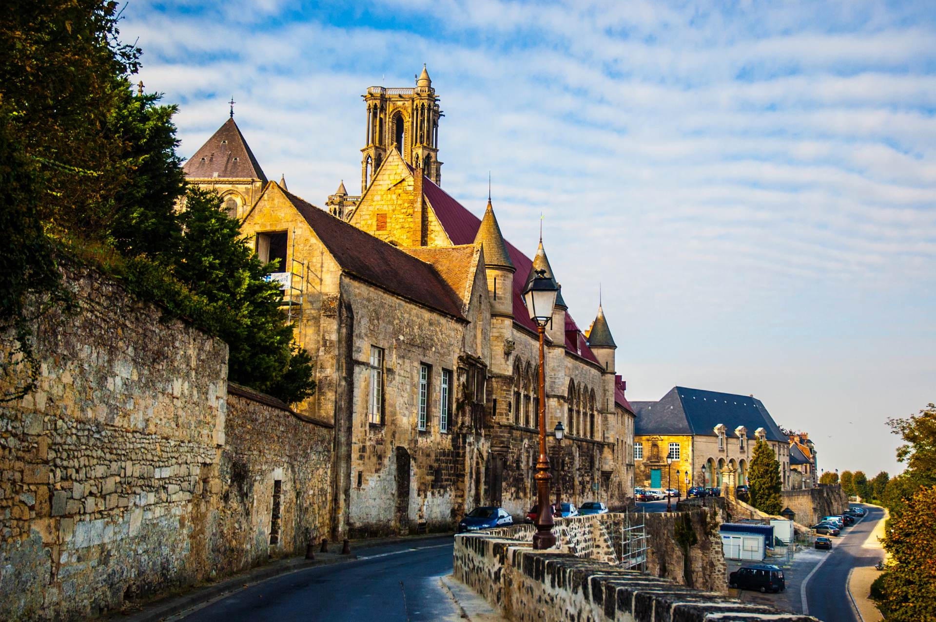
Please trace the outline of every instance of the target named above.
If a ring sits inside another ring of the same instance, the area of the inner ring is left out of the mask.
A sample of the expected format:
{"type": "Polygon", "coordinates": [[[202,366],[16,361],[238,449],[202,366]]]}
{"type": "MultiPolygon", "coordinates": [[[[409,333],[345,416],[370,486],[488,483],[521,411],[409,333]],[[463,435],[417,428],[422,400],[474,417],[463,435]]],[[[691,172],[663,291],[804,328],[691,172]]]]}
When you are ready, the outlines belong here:
{"type": "Polygon", "coordinates": [[[866,549],[862,544],[884,517],[884,511],[879,508],[865,506],[865,509],[868,514],[864,520],[846,528],[844,535],[833,539],[832,551],[807,582],[803,613],[814,615],[823,622],[861,622],[852,607],[845,584],[848,571],[852,568],[873,566],[880,560],[880,549],[866,549]]]}

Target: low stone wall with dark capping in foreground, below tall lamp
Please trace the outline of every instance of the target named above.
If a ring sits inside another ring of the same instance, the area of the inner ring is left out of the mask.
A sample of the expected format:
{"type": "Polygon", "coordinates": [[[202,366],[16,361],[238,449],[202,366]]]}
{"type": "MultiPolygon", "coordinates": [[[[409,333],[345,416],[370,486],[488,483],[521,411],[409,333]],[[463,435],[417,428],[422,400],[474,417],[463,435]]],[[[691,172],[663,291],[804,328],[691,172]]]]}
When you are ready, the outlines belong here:
{"type": "Polygon", "coordinates": [[[493,533],[455,537],[454,575],[514,622],[816,620],[493,533]]]}

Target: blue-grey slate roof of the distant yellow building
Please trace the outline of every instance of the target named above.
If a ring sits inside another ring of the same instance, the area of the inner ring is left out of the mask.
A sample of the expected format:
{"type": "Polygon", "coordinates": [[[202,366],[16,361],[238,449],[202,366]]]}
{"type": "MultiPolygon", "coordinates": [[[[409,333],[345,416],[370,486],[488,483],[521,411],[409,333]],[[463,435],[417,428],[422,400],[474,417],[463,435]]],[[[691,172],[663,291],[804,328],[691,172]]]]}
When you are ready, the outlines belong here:
{"type": "Polygon", "coordinates": [[[632,402],[637,415],[635,434],[691,434],[715,436],[715,427],[724,424],[727,434],[747,428],[753,439],[758,427],[768,441],[789,442],[761,400],[732,393],[674,386],[659,401],[632,402]]]}

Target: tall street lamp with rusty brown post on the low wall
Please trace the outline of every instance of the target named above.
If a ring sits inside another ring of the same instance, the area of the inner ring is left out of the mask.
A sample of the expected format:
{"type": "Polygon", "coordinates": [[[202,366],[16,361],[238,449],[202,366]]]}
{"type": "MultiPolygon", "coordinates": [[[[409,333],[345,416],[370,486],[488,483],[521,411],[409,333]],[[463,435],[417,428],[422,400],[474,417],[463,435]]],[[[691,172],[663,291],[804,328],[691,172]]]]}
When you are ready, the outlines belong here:
{"type": "Polygon", "coordinates": [[[539,460],[536,462],[536,499],[539,512],[536,514],[536,533],[533,534],[534,550],[551,548],[556,543],[552,533],[552,514],[549,512],[549,457],[546,455],[546,376],[544,339],[546,325],[552,319],[552,308],[556,304],[559,287],[546,276],[546,270],[536,270],[535,278],[523,292],[530,319],[536,323],[539,333],[539,460]]]}

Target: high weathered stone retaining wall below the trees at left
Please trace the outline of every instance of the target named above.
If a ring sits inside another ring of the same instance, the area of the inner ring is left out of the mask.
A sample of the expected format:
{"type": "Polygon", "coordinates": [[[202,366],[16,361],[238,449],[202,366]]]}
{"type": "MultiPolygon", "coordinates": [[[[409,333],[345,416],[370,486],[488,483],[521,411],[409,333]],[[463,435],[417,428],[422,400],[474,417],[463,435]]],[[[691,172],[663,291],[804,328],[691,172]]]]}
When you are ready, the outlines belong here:
{"type": "Polygon", "coordinates": [[[35,326],[37,390],[0,403],[0,619],[93,617],[329,528],[329,427],[228,398],[227,345],[119,284],[66,282],[79,309],[35,326]]]}

